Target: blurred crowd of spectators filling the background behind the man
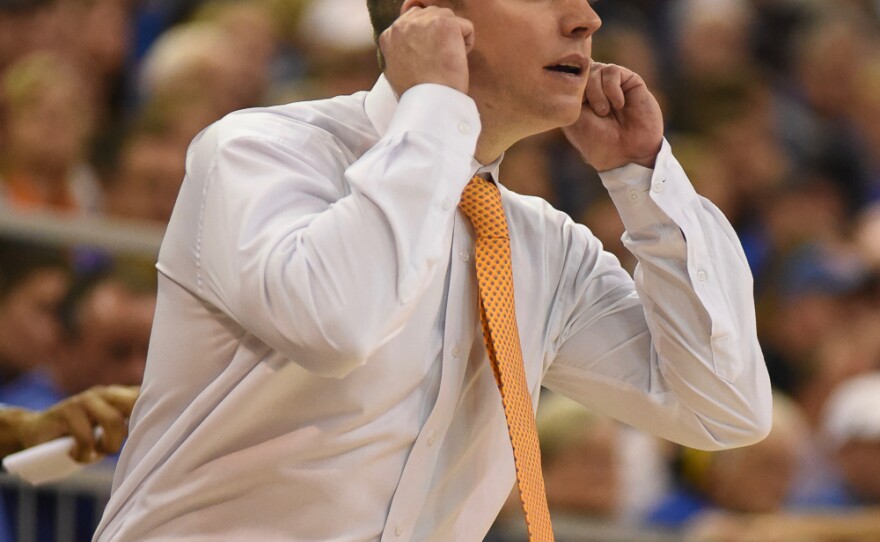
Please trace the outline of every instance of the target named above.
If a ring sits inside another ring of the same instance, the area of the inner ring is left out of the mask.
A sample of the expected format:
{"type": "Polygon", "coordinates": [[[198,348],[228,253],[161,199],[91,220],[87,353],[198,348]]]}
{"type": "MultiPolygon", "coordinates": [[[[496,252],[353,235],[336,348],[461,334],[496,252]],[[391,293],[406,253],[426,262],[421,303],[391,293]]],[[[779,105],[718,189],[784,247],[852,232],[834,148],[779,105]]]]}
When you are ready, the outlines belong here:
{"type": "MultiPolygon", "coordinates": [[[[880,1],[595,8],[594,57],[645,78],[676,156],[742,241],[775,424],[707,453],[548,397],[551,509],[705,540],[834,526],[880,540],[880,1]]],[[[205,126],[378,75],[365,0],[0,0],[0,212],[161,227],[205,126]]],[[[633,270],[611,200],[560,132],[511,149],[501,180],[633,270]]],[[[154,306],[149,261],[0,239],[0,402],[138,384],[154,306]]],[[[498,540],[514,536],[505,517],[498,540]]]]}

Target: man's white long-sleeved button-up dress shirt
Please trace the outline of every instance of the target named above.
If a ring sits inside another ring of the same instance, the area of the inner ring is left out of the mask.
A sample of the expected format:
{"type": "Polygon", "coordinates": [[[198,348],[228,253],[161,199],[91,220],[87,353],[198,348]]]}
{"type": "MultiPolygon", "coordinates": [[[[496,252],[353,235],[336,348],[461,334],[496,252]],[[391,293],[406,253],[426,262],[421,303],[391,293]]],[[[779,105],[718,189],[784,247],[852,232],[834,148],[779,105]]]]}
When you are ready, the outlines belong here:
{"type": "MultiPolygon", "coordinates": [[[[469,97],[420,85],[232,114],[200,134],[159,255],[143,393],[102,541],[478,541],[514,483],[457,209],[469,97]]],[[[503,181],[503,179],[501,179],[503,181]]],[[[528,384],[717,449],[770,385],[736,235],[668,144],[603,175],[635,282],[501,188],[528,384]]]]}

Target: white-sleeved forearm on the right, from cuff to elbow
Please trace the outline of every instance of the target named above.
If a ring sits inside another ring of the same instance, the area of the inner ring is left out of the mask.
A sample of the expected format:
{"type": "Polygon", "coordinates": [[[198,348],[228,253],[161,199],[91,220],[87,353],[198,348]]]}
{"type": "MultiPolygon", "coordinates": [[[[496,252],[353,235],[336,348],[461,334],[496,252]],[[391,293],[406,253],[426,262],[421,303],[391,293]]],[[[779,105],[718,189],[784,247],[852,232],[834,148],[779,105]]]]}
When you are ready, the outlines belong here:
{"type": "Polygon", "coordinates": [[[634,278],[652,356],[708,433],[742,427],[742,435],[731,436],[747,443],[747,433],[769,429],[770,383],[742,248],[720,211],[693,191],[668,144],[654,171],[617,172],[634,173],[603,181],[626,226],[624,242],[639,260],[634,278]],[[642,191],[636,201],[634,190],[642,191]]]}

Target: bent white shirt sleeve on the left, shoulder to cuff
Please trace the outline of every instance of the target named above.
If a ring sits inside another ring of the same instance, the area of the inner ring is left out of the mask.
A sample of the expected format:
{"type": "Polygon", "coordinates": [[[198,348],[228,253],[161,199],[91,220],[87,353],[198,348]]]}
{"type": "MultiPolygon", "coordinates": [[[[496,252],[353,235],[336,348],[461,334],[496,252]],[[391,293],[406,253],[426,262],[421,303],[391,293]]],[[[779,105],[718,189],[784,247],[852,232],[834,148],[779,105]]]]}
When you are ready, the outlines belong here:
{"type": "Polygon", "coordinates": [[[314,126],[261,122],[221,124],[191,151],[204,183],[197,288],[286,358],[341,377],[402,328],[448,257],[477,109],[447,87],[414,87],[354,163],[314,126]]]}

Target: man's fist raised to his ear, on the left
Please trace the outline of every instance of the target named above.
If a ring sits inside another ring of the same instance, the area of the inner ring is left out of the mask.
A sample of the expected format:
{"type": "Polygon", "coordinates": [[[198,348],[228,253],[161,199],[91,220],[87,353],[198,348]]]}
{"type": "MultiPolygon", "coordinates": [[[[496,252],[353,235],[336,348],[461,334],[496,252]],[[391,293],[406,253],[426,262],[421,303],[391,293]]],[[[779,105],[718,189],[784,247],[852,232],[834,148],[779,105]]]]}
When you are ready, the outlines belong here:
{"type": "Polygon", "coordinates": [[[404,13],[379,36],[385,76],[398,96],[410,88],[436,83],[467,93],[467,55],[474,26],[448,8],[407,0],[404,13]]]}

